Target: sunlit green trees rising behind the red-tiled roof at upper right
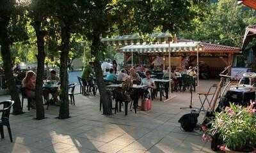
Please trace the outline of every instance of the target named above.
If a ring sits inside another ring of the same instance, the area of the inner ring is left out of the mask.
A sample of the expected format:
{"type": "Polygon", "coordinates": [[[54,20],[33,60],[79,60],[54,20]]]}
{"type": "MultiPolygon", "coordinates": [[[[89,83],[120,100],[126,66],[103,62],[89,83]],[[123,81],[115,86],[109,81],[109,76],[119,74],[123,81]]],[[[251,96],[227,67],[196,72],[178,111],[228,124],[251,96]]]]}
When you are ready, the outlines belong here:
{"type": "Polygon", "coordinates": [[[237,5],[236,0],[220,0],[204,10],[202,20],[195,18],[192,28],[180,31],[182,38],[240,47],[245,27],[256,22],[255,11],[237,5]]]}

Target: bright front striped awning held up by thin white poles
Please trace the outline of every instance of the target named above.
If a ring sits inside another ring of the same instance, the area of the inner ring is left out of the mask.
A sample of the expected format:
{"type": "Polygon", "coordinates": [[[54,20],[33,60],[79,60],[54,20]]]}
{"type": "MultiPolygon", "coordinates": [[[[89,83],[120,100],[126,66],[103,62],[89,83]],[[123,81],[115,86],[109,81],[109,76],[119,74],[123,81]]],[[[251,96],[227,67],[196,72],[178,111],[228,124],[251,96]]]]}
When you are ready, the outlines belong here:
{"type": "MultiPolygon", "coordinates": [[[[197,48],[203,50],[203,46],[200,42],[180,42],[180,43],[170,43],[171,52],[188,52],[196,51],[197,48]]],[[[142,44],[142,45],[128,45],[120,48],[122,52],[138,52],[138,53],[150,53],[150,52],[168,52],[169,44],[142,44]]]]}

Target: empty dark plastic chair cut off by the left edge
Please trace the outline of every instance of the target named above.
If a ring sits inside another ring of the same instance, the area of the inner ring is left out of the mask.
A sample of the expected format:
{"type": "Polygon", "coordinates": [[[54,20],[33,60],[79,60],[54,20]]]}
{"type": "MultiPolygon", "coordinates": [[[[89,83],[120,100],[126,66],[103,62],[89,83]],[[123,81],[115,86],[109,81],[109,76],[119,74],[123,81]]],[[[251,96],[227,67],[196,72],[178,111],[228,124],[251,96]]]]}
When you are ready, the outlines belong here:
{"type": "Polygon", "coordinates": [[[3,126],[7,126],[11,142],[13,142],[13,140],[12,140],[12,131],[10,128],[9,116],[10,116],[10,110],[12,108],[13,103],[14,103],[14,101],[10,101],[10,100],[0,102],[0,105],[3,105],[3,110],[0,110],[0,112],[2,112],[2,117],[0,120],[1,138],[4,138],[4,127],[3,126]]]}

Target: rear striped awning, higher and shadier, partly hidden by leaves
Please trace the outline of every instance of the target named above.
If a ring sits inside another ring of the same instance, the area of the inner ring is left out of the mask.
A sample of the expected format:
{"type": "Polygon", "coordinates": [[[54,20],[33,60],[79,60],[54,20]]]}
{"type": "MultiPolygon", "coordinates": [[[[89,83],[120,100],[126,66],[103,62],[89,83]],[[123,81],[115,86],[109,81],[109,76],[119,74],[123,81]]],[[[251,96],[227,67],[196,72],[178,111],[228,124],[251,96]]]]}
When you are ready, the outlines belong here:
{"type": "Polygon", "coordinates": [[[112,38],[102,38],[102,43],[106,43],[108,45],[131,45],[131,44],[143,44],[143,43],[163,43],[167,41],[172,41],[172,34],[170,33],[154,33],[149,34],[148,38],[152,40],[151,42],[145,42],[143,38],[141,38],[140,34],[131,34],[124,36],[113,36],[112,38]]]}

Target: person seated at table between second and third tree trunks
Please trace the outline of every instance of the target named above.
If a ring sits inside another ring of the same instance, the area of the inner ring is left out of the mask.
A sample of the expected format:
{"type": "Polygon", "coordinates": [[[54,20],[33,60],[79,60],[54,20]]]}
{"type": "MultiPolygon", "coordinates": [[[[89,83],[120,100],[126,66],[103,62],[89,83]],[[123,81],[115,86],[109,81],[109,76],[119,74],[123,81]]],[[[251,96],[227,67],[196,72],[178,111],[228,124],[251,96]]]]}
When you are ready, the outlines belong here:
{"type": "MultiPolygon", "coordinates": [[[[52,81],[57,81],[60,82],[60,78],[56,75],[56,71],[54,69],[52,69],[50,71],[50,76],[47,78],[47,80],[52,80],[52,81]]],[[[54,89],[44,89],[43,90],[43,96],[46,99],[46,101],[49,101],[49,94],[52,94],[52,98],[54,100],[54,102],[59,103],[59,91],[58,89],[54,88],[54,89]]]]}

